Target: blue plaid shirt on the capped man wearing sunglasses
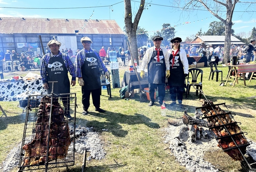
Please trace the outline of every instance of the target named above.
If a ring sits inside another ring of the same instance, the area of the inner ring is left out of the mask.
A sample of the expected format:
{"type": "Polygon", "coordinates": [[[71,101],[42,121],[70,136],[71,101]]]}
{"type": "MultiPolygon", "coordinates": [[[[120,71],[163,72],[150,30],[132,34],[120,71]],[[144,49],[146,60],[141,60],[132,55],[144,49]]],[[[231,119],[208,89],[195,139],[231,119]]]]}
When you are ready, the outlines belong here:
{"type": "Polygon", "coordinates": [[[96,50],[93,50],[93,49],[90,49],[89,51],[88,50],[81,50],[77,53],[76,55],[76,58],[75,58],[75,76],[76,77],[82,77],[82,73],[81,73],[81,67],[83,66],[84,64],[84,61],[86,60],[86,56],[85,54],[87,53],[95,53],[98,57],[98,64],[99,64],[99,67],[102,71],[104,72],[107,72],[108,69],[105,67],[105,65],[103,64],[101,58],[99,57],[99,53],[96,51],[96,50]]]}

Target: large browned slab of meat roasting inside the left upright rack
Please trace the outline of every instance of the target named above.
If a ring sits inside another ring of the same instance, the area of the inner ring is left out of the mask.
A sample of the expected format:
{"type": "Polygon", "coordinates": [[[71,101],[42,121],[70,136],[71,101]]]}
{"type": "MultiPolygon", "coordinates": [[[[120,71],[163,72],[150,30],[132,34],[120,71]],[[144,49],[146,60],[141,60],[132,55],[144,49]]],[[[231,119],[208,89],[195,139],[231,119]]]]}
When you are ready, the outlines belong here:
{"type": "Polygon", "coordinates": [[[22,147],[25,150],[24,165],[65,158],[71,144],[70,131],[57,98],[53,98],[52,106],[51,97],[42,98],[32,137],[33,140],[22,147]]]}

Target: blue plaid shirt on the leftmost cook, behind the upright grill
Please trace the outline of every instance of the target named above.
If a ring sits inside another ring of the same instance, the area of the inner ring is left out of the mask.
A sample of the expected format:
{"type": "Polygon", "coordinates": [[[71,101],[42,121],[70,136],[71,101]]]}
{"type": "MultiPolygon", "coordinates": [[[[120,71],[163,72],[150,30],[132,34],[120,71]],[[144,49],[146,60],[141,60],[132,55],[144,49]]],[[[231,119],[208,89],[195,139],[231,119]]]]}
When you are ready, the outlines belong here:
{"type": "Polygon", "coordinates": [[[72,80],[75,80],[75,66],[74,66],[74,64],[72,63],[72,61],[70,60],[70,57],[67,54],[61,53],[59,51],[59,54],[57,54],[57,55],[53,55],[52,52],[50,52],[50,53],[47,53],[43,56],[42,64],[41,64],[41,68],[40,68],[40,75],[41,75],[43,83],[46,83],[46,78],[47,78],[46,69],[47,69],[47,66],[50,62],[50,58],[51,57],[58,57],[58,56],[61,56],[61,55],[62,55],[63,61],[65,63],[65,66],[67,68],[67,71],[72,76],[72,80]]]}

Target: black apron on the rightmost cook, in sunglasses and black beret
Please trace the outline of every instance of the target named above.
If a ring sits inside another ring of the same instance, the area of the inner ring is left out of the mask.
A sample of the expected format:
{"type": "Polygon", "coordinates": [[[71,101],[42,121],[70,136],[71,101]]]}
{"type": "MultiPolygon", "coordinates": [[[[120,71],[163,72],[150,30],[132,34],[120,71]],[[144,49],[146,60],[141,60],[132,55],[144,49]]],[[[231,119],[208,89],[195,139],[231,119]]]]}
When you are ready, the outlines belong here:
{"type": "Polygon", "coordinates": [[[173,66],[172,66],[172,62],[173,62],[173,54],[170,55],[170,76],[168,77],[168,85],[186,87],[184,84],[185,75],[184,75],[183,64],[180,58],[180,52],[177,52],[176,56],[174,57],[173,66]]]}

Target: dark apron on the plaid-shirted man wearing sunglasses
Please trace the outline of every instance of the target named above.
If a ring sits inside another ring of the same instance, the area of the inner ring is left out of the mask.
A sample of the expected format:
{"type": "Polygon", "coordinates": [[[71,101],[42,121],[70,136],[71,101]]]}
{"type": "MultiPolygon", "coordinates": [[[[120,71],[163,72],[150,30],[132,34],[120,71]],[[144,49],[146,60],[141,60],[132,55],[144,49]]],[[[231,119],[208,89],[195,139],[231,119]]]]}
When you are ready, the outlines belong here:
{"type": "Polygon", "coordinates": [[[100,84],[100,69],[99,58],[95,53],[86,53],[86,60],[81,67],[81,73],[84,80],[84,90],[99,89],[100,84]]]}

